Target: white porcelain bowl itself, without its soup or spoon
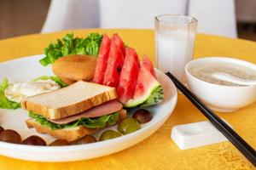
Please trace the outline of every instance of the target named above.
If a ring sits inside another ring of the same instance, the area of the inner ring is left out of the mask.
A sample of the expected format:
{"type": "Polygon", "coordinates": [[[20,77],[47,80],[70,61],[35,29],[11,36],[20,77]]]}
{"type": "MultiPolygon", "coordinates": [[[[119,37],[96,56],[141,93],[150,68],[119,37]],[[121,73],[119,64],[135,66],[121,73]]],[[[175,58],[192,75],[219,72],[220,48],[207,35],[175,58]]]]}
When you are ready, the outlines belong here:
{"type": "Polygon", "coordinates": [[[256,71],[256,65],[241,59],[224,57],[209,57],[195,59],[185,66],[187,82],[191,91],[212,110],[220,112],[233,112],[252,104],[256,100],[256,86],[224,86],[202,81],[189,73],[189,68],[208,62],[234,63],[244,65],[256,71]]]}

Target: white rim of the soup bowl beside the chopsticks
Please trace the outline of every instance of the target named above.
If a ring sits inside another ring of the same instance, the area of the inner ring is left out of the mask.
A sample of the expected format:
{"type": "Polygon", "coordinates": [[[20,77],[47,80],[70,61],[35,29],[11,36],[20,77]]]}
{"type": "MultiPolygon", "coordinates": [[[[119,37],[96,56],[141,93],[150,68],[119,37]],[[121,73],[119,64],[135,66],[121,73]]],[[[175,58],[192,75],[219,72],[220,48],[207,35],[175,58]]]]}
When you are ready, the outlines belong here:
{"type": "Polygon", "coordinates": [[[206,82],[206,81],[203,81],[201,80],[200,78],[198,77],[195,77],[194,75],[192,75],[188,68],[189,66],[191,65],[195,65],[195,63],[198,63],[198,62],[209,62],[209,61],[212,61],[212,60],[218,60],[218,62],[223,62],[223,63],[236,63],[237,65],[244,65],[248,68],[251,68],[253,69],[255,72],[256,72],[256,65],[251,63],[251,62],[248,62],[246,60],[242,60],[242,59],[234,59],[234,58],[230,58],[230,57],[221,57],[221,56],[206,56],[206,57],[202,57],[202,58],[199,58],[199,59],[193,59],[193,60],[190,60],[186,65],[185,65],[185,73],[186,75],[189,75],[189,77],[192,77],[194,78],[195,80],[197,80],[198,82],[203,82],[203,83],[206,83],[207,85],[211,85],[213,87],[216,87],[216,88],[233,88],[233,89],[237,89],[237,88],[253,88],[253,87],[256,87],[256,86],[225,86],[225,85],[220,85],[220,84],[215,84],[215,83],[212,83],[212,82],[206,82]]]}

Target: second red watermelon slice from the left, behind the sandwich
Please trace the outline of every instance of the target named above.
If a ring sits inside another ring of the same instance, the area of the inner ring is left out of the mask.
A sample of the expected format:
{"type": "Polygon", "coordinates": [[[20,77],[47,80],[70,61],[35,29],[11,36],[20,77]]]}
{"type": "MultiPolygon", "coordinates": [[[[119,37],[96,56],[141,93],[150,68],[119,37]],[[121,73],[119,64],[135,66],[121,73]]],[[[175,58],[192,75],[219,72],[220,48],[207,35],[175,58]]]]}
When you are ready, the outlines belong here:
{"type": "Polygon", "coordinates": [[[104,74],[103,84],[117,88],[119,85],[119,77],[124,65],[124,56],[113,39],[108,56],[107,70],[104,74]]]}

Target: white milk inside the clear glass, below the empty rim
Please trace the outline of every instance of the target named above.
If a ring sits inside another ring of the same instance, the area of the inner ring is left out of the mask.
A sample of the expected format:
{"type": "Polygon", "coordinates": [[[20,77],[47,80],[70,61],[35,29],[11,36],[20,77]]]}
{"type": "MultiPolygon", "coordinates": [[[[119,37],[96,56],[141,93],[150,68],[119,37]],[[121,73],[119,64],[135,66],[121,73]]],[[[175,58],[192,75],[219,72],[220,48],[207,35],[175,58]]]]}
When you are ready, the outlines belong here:
{"type": "Polygon", "coordinates": [[[195,32],[169,30],[157,35],[157,67],[170,71],[181,82],[185,82],[184,66],[194,53],[195,32]]]}

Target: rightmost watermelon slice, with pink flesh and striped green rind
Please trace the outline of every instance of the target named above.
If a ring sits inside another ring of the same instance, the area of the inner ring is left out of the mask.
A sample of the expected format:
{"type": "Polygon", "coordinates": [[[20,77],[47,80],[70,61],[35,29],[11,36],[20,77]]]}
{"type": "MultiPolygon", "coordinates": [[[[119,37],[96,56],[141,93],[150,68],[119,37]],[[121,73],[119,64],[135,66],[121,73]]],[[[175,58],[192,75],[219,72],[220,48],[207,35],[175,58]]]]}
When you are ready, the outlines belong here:
{"type": "Polygon", "coordinates": [[[154,71],[154,67],[150,59],[144,56],[133,99],[129,99],[125,103],[125,107],[146,107],[160,103],[164,99],[163,88],[152,71],[154,71]]]}

